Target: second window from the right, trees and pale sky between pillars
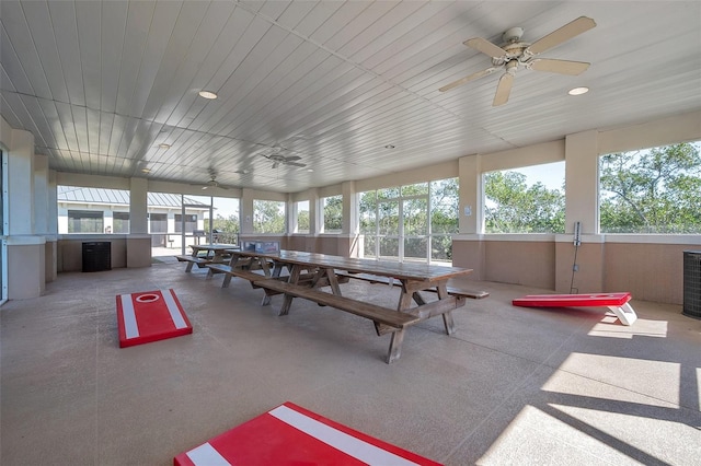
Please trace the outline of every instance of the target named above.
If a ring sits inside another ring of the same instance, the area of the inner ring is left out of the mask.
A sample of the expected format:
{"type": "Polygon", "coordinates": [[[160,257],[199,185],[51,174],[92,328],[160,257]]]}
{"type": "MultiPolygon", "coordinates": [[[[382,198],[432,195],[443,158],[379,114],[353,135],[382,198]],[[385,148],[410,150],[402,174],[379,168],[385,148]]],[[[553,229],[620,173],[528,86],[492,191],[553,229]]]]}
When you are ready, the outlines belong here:
{"type": "Polygon", "coordinates": [[[564,233],[564,162],[485,173],[485,233],[564,233]]]}

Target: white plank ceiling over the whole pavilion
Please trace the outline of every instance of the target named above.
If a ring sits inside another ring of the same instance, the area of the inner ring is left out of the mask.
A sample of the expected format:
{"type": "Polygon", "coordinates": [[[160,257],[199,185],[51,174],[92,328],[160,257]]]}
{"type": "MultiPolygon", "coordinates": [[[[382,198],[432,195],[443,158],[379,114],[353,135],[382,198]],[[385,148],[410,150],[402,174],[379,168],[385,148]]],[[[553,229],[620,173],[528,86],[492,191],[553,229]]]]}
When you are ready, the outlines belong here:
{"type": "Polygon", "coordinates": [[[295,193],[701,108],[698,1],[2,0],[0,26],[2,117],[60,172],[295,193]],[[492,65],[466,39],[582,15],[543,57],[583,74],[438,92],[492,65]]]}

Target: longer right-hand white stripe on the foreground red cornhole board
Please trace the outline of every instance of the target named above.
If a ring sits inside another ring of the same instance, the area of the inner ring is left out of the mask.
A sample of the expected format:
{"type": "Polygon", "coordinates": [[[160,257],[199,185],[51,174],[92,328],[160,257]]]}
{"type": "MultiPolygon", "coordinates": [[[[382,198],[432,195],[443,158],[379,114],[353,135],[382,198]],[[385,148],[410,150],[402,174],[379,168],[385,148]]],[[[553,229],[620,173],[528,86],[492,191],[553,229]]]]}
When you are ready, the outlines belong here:
{"type": "Polygon", "coordinates": [[[295,411],[287,406],[278,406],[272,411],[268,411],[268,413],[313,436],[320,442],[331,445],[366,464],[383,466],[416,465],[414,462],[410,462],[406,458],[402,458],[401,456],[397,456],[393,453],[356,439],[353,435],[341,432],[323,422],[319,422],[301,412],[295,411]]]}

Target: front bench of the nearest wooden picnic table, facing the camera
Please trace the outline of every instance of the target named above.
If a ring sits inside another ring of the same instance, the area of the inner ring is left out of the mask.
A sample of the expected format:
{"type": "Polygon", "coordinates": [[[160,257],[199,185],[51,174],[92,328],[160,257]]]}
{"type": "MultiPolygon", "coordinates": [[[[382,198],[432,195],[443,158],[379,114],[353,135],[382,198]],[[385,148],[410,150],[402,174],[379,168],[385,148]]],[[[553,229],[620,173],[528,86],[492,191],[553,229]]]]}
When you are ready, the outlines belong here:
{"type": "Polygon", "coordinates": [[[402,340],[404,339],[404,330],[406,327],[422,321],[422,318],[416,315],[400,313],[371,303],[357,301],[337,294],[325,293],[313,288],[291,284],[275,279],[263,279],[255,281],[253,284],[276,293],[285,293],[295,298],[303,298],[321,305],[335,307],[360,317],[369,318],[375,322],[376,329],[378,328],[378,325],[390,327],[392,329],[392,338],[390,340],[390,348],[386,360],[388,364],[397,361],[401,356],[402,340]]]}

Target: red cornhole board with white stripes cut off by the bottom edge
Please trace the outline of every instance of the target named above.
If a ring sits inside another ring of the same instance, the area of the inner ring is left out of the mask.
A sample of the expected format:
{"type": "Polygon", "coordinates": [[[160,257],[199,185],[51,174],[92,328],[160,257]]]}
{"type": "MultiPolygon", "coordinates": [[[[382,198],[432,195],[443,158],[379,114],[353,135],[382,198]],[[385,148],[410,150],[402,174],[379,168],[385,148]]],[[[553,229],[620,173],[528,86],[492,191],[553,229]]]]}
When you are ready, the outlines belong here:
{"type": "Polygon", "coordinates": [[[174,464],[439,465],[289,401],[181,453],[174,464]]]}

